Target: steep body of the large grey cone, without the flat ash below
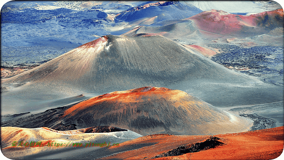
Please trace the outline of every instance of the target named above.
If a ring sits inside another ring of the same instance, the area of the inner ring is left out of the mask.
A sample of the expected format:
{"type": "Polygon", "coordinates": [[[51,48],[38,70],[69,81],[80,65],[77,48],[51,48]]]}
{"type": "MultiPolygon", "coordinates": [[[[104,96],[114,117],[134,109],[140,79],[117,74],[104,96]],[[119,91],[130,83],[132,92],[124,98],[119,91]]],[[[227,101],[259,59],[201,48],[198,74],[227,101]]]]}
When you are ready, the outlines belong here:
{"type": "Polygon", "coordinates": [[[101,93],[199,79],[255,81],[162,36],[108,35],[2,82],[66,83],[101,93]]]}

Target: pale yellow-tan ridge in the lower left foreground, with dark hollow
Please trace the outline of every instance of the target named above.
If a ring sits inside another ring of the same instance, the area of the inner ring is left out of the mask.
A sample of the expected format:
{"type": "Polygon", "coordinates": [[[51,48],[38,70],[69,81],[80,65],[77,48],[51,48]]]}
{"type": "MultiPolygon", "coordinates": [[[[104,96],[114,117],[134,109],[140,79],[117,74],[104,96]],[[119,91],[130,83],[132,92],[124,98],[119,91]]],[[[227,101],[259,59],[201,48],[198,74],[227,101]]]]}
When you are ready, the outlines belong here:
{"type": "Polygon", "coordinates": [[[100,146],[86,147],[86,144],[113,145],[113,143],[122,143],[138,137],[141,135],[112,126],[68,131],[57,131],[47,127],[32,129],[1,127],[1,152],[10,159],[54,159],[66,157],[66,153],[70,157],[78,156],[82,148],[86,152],[102,149],[100,146]],[[32,142],[35,142],[35,145],[32,142]],[[36,144],[36,142],[41,143],[36,144]],[[13,143],[17,145],[12,146],[13,143]],[[82,143],[82,147],[73,146],[73,143],[82,143]]]}

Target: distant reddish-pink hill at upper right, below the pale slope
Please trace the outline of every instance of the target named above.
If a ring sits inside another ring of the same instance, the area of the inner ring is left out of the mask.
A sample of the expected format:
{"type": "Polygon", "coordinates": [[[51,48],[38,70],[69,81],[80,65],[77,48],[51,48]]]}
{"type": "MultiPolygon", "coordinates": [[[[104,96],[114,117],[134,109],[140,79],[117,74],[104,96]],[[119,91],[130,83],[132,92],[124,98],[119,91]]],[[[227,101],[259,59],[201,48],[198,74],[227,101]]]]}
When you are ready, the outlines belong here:
{"type": "Polygon", "coordinates": [[[283,27],[283,9],[254,15],[234,15],[221,10],[201,12],[187,18],[204,31],[230,36],[256,36],[283,27]]]}

